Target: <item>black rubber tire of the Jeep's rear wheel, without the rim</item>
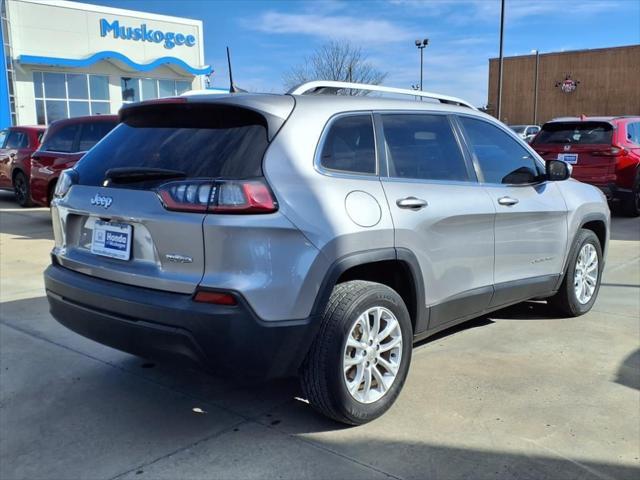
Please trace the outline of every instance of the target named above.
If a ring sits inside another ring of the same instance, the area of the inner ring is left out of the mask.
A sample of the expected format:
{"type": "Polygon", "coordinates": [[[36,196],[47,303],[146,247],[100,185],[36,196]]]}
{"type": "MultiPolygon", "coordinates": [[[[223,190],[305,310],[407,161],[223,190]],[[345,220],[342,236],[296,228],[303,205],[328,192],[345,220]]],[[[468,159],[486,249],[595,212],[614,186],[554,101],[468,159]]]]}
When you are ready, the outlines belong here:
{"type": "Polygon", "coordinates": [[[321,319],[321,326],[302,366],[302,390],[321,414],[348,425],[361,425],[386,412],[404,385],[411,363],[413,329],[402,298],[391,288],[355,280],[336,285],[321,319]],[[395,380],[381,398],[361,403],[347,390],[343,355],[347,337],[358,317],[381,306],[398,320],[402,334],[401,357],[395,380]]]}

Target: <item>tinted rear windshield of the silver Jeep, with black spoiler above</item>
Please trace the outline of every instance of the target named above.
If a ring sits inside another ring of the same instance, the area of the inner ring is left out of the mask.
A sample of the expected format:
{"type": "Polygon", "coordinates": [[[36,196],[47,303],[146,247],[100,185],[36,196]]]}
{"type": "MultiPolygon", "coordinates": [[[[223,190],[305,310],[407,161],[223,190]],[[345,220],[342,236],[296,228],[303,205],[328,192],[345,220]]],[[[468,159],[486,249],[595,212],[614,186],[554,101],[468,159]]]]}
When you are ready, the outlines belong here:
{"type": "Polygon", "coordinates": [[[251,178],[262,176],[267,146],[265,119],[247,109],[134,107],[75,169],[82,185],[101,185],[107,170],[122,167],[179,170],[186,178],[251,178]]]}

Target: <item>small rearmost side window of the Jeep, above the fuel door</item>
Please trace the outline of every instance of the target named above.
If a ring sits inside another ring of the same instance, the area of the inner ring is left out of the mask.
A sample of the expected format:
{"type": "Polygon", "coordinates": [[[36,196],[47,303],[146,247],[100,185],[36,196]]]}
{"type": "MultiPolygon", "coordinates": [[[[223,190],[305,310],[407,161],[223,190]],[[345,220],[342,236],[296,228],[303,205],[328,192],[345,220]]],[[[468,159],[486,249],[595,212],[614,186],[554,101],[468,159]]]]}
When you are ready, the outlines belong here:
{"type": "Polygon", "coordinates": [[[330,170],[375,174],[376,150],[371,115],[346,115],[334,120],[322,144],[320,164],[330,170]]]}

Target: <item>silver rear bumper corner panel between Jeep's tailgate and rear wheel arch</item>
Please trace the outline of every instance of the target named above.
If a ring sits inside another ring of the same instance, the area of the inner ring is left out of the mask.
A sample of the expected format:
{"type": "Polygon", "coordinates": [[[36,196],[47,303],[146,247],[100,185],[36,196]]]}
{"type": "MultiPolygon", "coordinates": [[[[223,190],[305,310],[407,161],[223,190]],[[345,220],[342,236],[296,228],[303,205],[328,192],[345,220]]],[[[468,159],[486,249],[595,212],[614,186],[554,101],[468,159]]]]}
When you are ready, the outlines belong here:
{"type": "Polygon", "coordinates": [[[284,215],[207,215],[203,231],[202,286],[241,292],[265,321],[309,315],[329,265],[284,215]]]}

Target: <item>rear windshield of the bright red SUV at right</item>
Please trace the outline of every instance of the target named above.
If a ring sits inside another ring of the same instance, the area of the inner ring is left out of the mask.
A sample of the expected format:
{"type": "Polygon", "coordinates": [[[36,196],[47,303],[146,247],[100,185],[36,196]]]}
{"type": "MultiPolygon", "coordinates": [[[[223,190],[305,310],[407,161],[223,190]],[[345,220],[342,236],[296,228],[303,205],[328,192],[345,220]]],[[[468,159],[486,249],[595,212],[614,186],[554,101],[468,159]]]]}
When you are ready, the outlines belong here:
{"type": "Polygon", "coordinates": [[[612,134],[607,122],[553,122],[542,127],[534,143],[610,144],[612,134]]]}

